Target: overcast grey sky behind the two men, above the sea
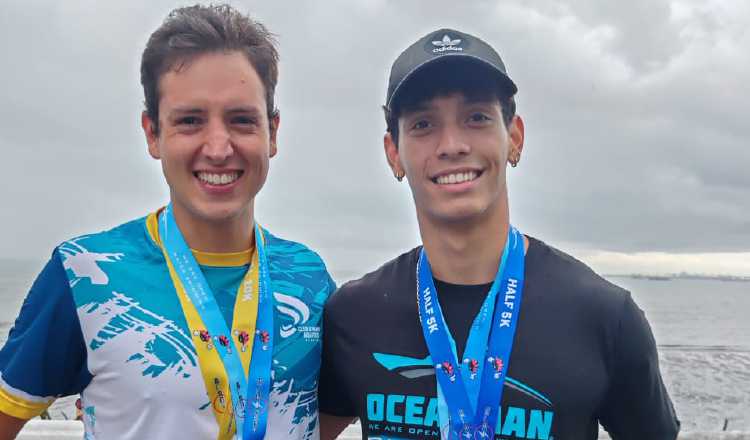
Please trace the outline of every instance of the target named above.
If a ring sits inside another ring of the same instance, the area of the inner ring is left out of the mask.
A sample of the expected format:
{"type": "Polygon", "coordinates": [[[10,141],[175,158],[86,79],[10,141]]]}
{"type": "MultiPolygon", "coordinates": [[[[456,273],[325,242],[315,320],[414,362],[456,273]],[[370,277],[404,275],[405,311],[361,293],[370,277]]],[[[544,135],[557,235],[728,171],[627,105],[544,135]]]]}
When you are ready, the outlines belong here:
{"type": "MultiPolygon", "coordinates": [[[[184,2],[3,2],[0,256],[168,200],[140,130],[139,60],[184,2]]],[[[278,35],[273,232],[362,273],[418,243],[382,152],[393,59],[439,27],[492,44],[519,87],[522,231],[607,273],[750,275],[750,2],[245,1],[278,35]],[[533,6],[526,5],[533,3],[533,6]]]]}

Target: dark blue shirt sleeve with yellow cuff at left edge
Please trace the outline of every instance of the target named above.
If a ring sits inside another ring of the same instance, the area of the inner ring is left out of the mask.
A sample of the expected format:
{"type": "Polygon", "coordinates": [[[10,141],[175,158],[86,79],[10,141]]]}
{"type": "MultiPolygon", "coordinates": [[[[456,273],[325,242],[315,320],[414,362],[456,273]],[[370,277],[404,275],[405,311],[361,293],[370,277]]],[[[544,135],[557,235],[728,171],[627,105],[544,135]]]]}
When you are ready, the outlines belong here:
{"type": "Polygon", "coordinates": [[[0,411],[31,419],[90,381],[73,295],[55,250],[0,350],[0,411]]]}

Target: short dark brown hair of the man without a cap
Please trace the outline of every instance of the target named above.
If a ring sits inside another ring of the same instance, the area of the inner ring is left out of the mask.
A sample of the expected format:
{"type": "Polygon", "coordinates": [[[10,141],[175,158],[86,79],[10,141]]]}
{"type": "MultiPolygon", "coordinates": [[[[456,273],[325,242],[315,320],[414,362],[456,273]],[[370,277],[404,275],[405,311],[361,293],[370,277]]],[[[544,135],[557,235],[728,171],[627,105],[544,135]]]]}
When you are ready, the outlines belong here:
{"type": "Polygon", "coordinates": [[[268,117],[276,114],[274,91],[279,54],[273,34],[263,24],[229,5],[195,5],[169,13],[151,34],[141,58],[146,113],[159,131],[159,79],[199,55],[240,51],[255,68],[266,94],[268,117]]]}

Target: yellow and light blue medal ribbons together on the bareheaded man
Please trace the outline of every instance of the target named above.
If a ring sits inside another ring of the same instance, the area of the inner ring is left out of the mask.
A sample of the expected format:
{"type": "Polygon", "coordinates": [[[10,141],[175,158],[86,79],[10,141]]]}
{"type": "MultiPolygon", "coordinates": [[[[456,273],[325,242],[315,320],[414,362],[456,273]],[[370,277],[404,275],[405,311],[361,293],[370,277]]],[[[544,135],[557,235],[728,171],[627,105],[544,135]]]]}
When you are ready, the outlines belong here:
{"type": "Polygon", "coordinates": [[[198,354],[203,381],[219,424],[218,438],[262,439],[268,417],[274,333],[262,229],[254,225],[256,252],[238,287],[234,329],[230,332],[175,222],[171,204],[160,220],[162,252],[198,354]]]}

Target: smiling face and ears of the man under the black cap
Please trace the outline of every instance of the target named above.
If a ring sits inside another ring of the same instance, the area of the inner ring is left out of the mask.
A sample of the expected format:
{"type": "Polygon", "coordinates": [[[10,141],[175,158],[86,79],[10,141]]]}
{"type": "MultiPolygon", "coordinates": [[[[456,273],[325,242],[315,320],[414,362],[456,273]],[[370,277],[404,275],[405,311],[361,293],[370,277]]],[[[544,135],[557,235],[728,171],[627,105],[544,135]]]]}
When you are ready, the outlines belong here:
{"type": "Polygon", "coordinates": [[[394,173],[406,174],[421,220],[473,222],[507,209],[505,170],[523,146],[523,122],[515,116],[506,127],[495,96],[455,92],[410,106],[398,135],[396,146],[386,134],[386,155],[394,173]]]}

